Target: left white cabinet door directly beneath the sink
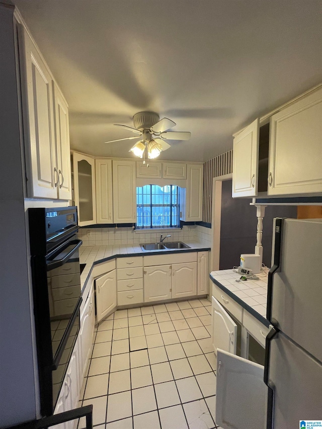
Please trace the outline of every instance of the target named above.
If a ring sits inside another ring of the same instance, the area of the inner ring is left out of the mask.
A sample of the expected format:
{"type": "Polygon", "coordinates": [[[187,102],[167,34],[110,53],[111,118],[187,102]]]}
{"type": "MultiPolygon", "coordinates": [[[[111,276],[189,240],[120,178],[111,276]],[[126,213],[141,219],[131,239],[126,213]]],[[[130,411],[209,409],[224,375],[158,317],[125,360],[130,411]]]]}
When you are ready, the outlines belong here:
{"type": "Polygon", "coordinates": [[[144,267],[144,302],[171,298],[171,265],[144,267]]]}

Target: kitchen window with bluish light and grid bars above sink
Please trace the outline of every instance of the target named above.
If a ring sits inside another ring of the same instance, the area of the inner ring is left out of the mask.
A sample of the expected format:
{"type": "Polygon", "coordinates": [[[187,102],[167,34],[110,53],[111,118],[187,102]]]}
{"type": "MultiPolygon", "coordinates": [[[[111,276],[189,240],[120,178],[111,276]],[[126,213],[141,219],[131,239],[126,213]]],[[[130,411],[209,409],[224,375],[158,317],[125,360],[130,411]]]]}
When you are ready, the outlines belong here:
{"type": "Polygon", "coordinates": [[[136,188],[136,228],[179,228],[179,187],[145,185],[136,188]]]}

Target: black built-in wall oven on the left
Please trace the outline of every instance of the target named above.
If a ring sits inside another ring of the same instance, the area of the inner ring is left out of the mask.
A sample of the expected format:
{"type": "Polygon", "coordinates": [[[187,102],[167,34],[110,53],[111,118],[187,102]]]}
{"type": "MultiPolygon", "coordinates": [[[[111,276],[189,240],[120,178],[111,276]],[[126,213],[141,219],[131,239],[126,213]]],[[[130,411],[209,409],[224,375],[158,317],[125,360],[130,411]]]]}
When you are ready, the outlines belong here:
{"type": "Polygon", "coordinates": [[[28,210],[43,416],[54,411],[79,331],[81,275],[77,208],[28,210]]]}

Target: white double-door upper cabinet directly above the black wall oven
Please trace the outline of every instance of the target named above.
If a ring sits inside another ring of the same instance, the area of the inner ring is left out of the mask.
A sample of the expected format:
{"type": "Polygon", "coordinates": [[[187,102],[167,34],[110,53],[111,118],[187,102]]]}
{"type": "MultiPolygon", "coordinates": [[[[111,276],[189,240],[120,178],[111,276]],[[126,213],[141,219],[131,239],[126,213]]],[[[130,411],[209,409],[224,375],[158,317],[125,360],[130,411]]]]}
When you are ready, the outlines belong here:
{"type": "Polygon", "coordinates": [[[42,55],[18,24],[27,193],[71,199],[68,107],[42,55]]]}

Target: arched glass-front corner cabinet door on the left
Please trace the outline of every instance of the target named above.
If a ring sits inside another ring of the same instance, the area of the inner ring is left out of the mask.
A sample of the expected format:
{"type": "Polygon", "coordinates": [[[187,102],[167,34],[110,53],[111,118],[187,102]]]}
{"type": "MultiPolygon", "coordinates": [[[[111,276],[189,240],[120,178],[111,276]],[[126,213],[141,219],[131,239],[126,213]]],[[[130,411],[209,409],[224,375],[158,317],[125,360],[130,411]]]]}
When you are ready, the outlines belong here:
{"type": "Polygon", "coordinates": [[[73,152],[74,200],[78,225],[96,223],[95,159],[73,152]]]}

